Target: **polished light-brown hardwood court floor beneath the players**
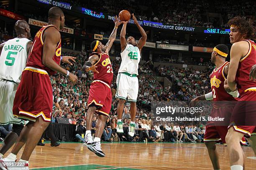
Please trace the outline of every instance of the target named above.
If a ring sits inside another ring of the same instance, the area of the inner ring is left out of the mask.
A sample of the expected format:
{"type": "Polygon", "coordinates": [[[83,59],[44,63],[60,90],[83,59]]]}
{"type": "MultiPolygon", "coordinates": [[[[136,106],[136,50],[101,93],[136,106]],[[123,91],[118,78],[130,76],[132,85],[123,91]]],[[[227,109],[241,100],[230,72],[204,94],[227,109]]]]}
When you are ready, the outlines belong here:
{"type": "MultiPolygon", "coordinates": [[[[217,148],[220,155],[220,168],[229,170],[227,147],[217,145],[217,148]]],[[[97,157],[82,143],[61,143],[56,148],[46,143],[45,146],[36,146],[30,158],[30,168],[36,170],[212,170],[207,148],[203,143],[103,143],[102,150],[106,154],[104,158],[97,157]]],[[[243,147],[243,151],[246,156],[246,169],[256,170],[256,159],[253,157],[251,147],[243,147]]],[[[17,158],[20,158],[20,154],[17,158]]]]}

